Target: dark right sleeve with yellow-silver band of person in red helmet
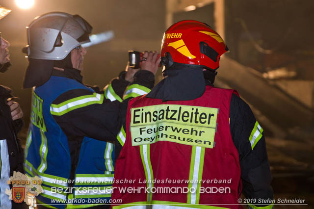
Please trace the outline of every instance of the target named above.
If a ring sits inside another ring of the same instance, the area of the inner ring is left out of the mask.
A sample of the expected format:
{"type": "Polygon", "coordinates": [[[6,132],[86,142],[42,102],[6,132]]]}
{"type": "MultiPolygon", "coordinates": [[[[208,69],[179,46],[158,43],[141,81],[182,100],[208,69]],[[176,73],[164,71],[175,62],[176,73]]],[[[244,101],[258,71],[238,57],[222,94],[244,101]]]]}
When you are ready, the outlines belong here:
{"type": "Polygon", "coordinates": [[[255,199],[252,209],[272,209],[273,205],[258,205],[259,199],[273,200],[270,186],[271,173],[266,152],[263,129],[254,114],[243,100],[236,95],[231,98],[230,129],[236,149],[239,153],[243,194],[255,199]]]}

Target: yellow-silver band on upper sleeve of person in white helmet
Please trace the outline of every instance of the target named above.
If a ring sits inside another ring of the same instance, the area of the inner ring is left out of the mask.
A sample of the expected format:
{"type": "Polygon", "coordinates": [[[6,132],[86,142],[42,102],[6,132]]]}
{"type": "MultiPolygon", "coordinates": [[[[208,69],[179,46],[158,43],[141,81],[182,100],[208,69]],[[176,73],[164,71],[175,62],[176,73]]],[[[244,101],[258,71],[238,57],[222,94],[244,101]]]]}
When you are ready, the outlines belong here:
{"type": "Polygon", "coordinates": [[[50,113],[52,115],[63,115],[74,109],[78,109],[91,104],[102,104],[104,95],[94,93],[92,95],[80,96],[60,104],[51,104],[50,113]]]}

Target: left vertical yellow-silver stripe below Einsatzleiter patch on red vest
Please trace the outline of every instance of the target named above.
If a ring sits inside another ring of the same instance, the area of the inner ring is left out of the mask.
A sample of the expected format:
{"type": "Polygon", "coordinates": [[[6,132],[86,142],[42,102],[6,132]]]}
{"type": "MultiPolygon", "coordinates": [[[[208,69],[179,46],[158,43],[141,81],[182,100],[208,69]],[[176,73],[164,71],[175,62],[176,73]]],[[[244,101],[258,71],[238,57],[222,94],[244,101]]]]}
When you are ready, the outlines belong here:
{"type": "Polygon", "coordinates": [[[150,145],[141,145],[140,146],[140,153],[141,153],[141,158],[142,158],[142,163],[144,166],[144,171],[145,171],[145,176],[147,180],[147,187],[148,193],[147,193],[147,202],[152,201],[152,193],[151,189],[153,188],[153,169],[152,169],[152,164],[151,164],[151,154],[150,154],[150,145]]]}

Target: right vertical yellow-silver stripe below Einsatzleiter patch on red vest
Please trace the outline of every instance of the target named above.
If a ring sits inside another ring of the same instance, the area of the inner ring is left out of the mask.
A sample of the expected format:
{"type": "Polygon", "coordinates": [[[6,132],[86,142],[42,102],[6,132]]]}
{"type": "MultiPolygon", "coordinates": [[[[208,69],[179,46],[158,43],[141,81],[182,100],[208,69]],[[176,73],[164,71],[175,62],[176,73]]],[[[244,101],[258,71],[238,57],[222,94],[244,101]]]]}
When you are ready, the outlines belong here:
{"type": "Polygon", "coordinates": [[[203,176],[205,148],[204,147],[192,147],[190,175],[189,175],[189,192],[187,194],[187,203],[199,204],[200,201],[200,187],[203,176]],[[193,188],[193,189],[192,189],[193,188]],[[193,192],[194,191],[194,192],[193,192]]]}

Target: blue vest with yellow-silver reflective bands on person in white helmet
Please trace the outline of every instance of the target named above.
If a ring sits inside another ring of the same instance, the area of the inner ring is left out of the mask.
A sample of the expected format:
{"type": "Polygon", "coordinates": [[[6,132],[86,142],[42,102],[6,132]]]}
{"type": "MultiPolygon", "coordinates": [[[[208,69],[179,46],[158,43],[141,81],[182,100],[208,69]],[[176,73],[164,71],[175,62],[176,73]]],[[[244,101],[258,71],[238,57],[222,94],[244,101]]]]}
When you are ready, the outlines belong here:
{"type": "Polygon", "coordinates": [[[90,204],[99,198],[110,199],[114,174],[113,144],[85,136],[80,147],[75,180],[71,180],[67,136],[53,118],[53,115],[66,114],[91,104],[102,104],[103,101],[103,94],[70,78],[52,76],[42,86],[33,88],[24,167],[26,175],[39,176],[43,181],[44,192],[37,196],[37,204],[64,209],[64,203],[71,208],[73,204],[90,204]],[[87,89],[92,94],[52,104],[61,94],[73,89],[87,89]]]}

